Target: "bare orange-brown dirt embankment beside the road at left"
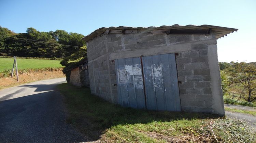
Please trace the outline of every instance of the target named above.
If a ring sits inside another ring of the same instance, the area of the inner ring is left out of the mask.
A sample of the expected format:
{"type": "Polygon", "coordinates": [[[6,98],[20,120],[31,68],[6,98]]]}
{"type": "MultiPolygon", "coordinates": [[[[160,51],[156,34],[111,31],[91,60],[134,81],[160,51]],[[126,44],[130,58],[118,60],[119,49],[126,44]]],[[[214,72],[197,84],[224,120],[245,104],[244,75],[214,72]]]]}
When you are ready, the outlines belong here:
{"type": "Polygon", "coordinates": [[[58,71],[38,71],[38,72],[27,72],[19,74],[19,82],[17,81],[16,75],[14,77],[3,77],[0,78],[0,90],[16,86],[23,83],[33,82],[37,80],[52,79],[65,77],[62,70],[58,71]]]}

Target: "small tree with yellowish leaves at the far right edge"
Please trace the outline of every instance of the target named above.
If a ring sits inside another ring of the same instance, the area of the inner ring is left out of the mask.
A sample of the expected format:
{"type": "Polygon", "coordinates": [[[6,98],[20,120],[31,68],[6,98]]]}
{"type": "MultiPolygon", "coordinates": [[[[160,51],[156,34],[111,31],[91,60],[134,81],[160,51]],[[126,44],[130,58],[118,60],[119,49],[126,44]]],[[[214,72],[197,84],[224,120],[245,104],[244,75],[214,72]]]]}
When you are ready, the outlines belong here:
{"type": "Polygon", "coordinates": [[[256,66],[245,62],[232,63],[232,66],[228,71],[230,86],[237,88],[241,98],[248,102],[255,101],[256,66]]]}

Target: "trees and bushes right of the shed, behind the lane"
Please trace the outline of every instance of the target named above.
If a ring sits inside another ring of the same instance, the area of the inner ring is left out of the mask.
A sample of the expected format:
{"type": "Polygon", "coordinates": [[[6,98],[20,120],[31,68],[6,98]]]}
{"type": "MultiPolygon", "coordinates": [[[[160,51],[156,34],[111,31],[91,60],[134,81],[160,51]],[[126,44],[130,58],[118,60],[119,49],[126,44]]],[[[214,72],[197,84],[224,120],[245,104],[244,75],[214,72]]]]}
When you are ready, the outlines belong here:
{"type": "Polygon", "coordinates": [[[224,96],[256,101],[256,62],[220,62],[224,96]]]}

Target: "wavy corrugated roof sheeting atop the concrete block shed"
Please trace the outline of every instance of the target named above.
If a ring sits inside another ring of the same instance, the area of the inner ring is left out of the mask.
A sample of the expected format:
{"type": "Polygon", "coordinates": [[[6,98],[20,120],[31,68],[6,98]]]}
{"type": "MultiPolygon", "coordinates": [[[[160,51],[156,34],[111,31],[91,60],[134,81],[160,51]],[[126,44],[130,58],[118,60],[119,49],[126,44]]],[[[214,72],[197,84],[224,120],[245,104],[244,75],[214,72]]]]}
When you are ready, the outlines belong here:
{"type": "Polygon", "coordinates": [[[89,35],[85,36],[83,38],[84,41],[88,42],[91,39],[100,36],[102,33],[104,33],[106,30],[209,30],[211,29],[211,31],[215,32],[215,37],[221,38],[224,37],[225,35],[227,36],[227,34],[237,31],[238,29],[235,28],[227,28],[227,27],[220,27],[220,26],[212,26],[212,25],[201,25],[201,26],[195,26],[195,25],[186,25],[186,26],[180,26],[180,25],[173,25],[173,26],[160,26],[160,27],[124,27],[124,26],[119,26],[119,27],[109,27],[109,28],[99,28],[93,32],[91,32],[89,35]]]}

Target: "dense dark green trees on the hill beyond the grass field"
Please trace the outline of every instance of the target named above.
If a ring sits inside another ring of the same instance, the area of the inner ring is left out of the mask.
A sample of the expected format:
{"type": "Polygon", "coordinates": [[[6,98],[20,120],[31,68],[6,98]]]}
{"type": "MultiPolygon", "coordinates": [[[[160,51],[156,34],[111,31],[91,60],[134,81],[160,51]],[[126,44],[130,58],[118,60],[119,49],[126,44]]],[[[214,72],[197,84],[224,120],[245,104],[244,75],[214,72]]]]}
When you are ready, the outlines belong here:
{"type": "Polygon", "coordinates": [[[0,55],[66,58],[86,46],[83,37],[64,30],[40,32],[34,28],[27,28],[26,33],[14,33],[0,26],[0,55]]]}

